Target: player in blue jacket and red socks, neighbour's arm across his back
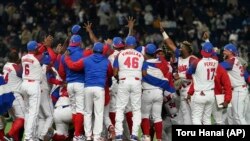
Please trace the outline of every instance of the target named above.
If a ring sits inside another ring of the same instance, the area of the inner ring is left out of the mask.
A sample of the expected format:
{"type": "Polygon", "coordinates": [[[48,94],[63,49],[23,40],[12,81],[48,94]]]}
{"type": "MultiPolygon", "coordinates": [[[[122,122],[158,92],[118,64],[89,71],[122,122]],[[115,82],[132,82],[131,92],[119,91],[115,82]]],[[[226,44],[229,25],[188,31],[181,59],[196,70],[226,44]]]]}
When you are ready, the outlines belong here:
{"type": "MultiPolygon", "coordinates": [[[[67,50],[71,53],[70,58],[77,61],[83,57],[83,49],[81,48],[81,36],[73,35],[70,39],[67,50]]],[[[59,64],[59,74],[62,79],[67,81],[67,91],[69,93],[70,106],[72,109],[72,120],[75,127],[74,141],[82,141],[83,137],[83,110],[84,110],[84,73],[76,72],[69,69],[62,55],[59,64]]]]}

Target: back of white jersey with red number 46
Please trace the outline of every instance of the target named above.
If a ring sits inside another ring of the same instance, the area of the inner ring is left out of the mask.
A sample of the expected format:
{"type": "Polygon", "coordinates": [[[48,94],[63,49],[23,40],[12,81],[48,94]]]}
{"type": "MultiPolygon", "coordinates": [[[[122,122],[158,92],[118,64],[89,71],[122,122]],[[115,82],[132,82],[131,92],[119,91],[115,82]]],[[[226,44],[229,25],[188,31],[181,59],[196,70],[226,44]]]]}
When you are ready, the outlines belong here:
{"type": "Polygon", "coordinates": [[[118,55],[119,78],[142,78],[143,55],[135,49],[125,49],[118,55]]]}

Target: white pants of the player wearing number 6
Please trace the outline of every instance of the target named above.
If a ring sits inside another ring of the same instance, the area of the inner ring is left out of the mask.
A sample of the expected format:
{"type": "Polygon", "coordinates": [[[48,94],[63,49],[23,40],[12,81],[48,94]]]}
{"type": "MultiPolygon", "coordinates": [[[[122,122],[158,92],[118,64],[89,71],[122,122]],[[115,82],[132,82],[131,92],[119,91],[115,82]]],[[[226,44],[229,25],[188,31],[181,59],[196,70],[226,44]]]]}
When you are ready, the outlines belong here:
{"type": "Polygon", "coordinates": [[[41,99],[41,86],[39,81],[24,80],[22,83],[27,112],[25,113],[24,138],[31,140],[35,138],[36,127],[41,99]]]}

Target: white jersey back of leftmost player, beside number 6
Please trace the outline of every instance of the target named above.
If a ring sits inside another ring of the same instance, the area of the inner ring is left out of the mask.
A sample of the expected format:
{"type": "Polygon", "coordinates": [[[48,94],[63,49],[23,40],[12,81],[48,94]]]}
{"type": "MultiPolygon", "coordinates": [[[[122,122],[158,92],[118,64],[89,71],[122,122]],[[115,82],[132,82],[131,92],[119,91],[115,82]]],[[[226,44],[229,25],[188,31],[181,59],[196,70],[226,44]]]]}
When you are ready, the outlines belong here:
{"type": "Polygon", "coordinates": [[[17,76],[17,71],[19,71],[21,66],[18,66],[15,63],[7,62],[3,67],[4,79],[7,83],[7,86],[13,92],[20,92],[20,87],[22,84],[22,78],[17,76]]]}

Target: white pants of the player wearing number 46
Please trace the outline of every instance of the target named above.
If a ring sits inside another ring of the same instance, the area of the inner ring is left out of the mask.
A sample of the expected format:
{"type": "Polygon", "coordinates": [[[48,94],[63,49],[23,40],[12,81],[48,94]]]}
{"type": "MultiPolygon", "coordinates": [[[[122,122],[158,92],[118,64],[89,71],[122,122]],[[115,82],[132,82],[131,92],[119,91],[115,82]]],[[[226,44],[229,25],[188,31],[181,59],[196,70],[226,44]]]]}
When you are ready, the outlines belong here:
{"type": "Polygon", "coordinates": [[[118,85],[118,93],[116,97],[116,135],[122,135],[123,133],[123,119],[124,111],[129,100],[131,100],[132,112],[133,112],[133,129],[132,134],[138,135],[138,130],[141,124],[141,81],[135,80],[135,78],[126,78],[120,80],[118,85]]]}

